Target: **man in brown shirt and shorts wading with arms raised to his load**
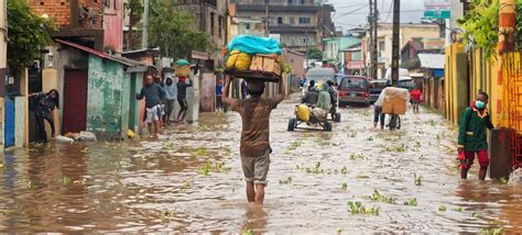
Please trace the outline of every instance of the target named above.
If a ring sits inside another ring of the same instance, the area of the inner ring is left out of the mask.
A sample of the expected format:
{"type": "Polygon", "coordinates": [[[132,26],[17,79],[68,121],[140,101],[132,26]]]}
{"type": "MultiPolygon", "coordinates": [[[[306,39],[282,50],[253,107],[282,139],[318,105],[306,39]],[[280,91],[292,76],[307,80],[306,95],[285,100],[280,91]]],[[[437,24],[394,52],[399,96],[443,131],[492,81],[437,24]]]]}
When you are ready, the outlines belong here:
{"type": "Polygon", "coordinates": [[[264,82],[249,80],[247,89],[250,98],[237,100],[229,98],[230,78],[227,76],[222,90],[222,103],[241,115],[241,165],[247,181],[247,199],[255,204],[263,204],[264,187],[269,174],[270,154],[270,113],[284,98],[284,83],[280,81],[279,94],[273,98],[261,98],[264,82]]]}

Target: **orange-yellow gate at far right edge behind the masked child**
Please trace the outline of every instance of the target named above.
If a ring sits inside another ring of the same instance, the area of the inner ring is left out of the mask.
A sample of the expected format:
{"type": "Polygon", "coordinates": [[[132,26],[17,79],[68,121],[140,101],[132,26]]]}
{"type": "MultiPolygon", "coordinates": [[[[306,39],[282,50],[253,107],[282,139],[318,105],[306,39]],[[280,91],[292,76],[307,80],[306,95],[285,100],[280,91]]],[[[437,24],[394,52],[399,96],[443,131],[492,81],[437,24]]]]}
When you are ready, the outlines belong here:
{"type": "Polygon", "coordinates": [[[522,60],[520,53],[503,55],[502,74],[507,77],[512,166],[519,168],[522,167],[522,60]]]}

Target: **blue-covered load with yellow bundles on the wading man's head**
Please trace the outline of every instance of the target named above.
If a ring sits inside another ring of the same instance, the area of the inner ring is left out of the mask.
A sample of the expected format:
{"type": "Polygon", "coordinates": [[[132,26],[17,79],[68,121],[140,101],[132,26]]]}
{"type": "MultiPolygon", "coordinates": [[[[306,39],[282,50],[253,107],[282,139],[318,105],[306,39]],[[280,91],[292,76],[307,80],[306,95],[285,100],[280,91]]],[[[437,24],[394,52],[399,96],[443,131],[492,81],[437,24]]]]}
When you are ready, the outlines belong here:
{"type": "Polygon", "coordinates": [[[228,45],[227,68],[240,71],[263,71],[281,76],[282,51],[271,37],[240,35],[228,45]]]}

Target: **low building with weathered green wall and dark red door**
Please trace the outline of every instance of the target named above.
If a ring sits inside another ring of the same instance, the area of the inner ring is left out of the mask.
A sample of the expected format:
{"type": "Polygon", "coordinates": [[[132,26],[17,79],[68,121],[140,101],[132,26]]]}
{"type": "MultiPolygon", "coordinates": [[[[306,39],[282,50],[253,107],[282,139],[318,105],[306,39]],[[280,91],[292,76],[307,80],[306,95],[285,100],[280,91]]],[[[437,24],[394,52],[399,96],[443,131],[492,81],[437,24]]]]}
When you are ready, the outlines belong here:
{"type": "Polygon", "coordinates": [[[121,139],[139,131],[142,72],[149,66],[124,57],[56,40],[62,53],[54,59],[62,98],[62,132],[94,132],[101,139],[121,139]]]}

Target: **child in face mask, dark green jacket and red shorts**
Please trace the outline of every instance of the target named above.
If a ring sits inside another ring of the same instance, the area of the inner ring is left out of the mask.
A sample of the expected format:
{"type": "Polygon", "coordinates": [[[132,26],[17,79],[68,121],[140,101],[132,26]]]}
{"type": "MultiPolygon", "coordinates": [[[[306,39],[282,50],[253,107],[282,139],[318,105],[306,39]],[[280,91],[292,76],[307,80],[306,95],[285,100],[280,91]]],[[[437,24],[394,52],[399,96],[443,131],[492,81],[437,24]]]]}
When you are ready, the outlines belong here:
{"type": "Polygon", "coordinates": [[[491,116],[486,105],[489,96],[479,92],[471,107],[464,110],[458,125],[458,159],[460,161],[460,178],[466,179],[477,156],[480,170],[479,179],[485,180],[488,172],[489,156],[486,131],[493,128],[491,116]]]}

